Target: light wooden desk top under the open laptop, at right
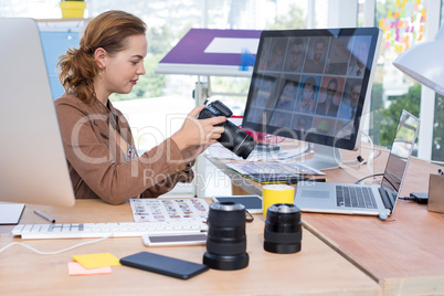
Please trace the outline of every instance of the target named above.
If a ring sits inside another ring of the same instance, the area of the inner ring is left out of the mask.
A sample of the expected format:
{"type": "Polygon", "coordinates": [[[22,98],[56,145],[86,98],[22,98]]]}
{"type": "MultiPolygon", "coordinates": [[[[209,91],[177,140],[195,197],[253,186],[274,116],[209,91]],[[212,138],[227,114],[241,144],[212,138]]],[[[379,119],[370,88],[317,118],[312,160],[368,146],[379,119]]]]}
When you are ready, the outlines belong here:
{"type": "MultiPolygon", "coordinates": [[[[355,158],[345,151],[346,159],[355,158]]],[[[383,151],[372,165],[374,173],[383,172],[388,152],[383,151]]],[[[210,159],[226,171],[221,160],[210,159]]],[[[437,166],[415,158],[409,165],[402,195],[427,192],[429,175],[437,166]]],[[[332,182],[355,182],[369,175],[366,166],[359,169],[327,170],[332,182]]],[[[261,184],[250,180],[235,182],[244,190],[261,193],[261,184]]],[[[303,213],[304,225],[329,244],[357,267],[381,285],[383,295],[444,294],[444,215],[429,212],[426,205],[399,200],[394,214],[383,222],[374,216],[303,213]]]]}

